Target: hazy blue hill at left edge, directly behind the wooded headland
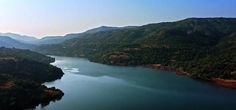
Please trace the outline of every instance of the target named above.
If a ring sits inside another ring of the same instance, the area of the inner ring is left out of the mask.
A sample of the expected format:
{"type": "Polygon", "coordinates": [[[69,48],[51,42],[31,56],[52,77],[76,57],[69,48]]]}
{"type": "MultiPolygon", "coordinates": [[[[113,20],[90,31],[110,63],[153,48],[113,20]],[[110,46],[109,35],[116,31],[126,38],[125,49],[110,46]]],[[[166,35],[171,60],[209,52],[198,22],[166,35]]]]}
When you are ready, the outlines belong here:
{"type": "Polygon", "coordinates": [[[0,36],[0,47],[8,47],[8,48],[21,48],[21,49],[29,49],[33,48],[34,46],[31,44],[25,44],[19,42],[15,39],[12,39],[8,36],[0,36]]]}

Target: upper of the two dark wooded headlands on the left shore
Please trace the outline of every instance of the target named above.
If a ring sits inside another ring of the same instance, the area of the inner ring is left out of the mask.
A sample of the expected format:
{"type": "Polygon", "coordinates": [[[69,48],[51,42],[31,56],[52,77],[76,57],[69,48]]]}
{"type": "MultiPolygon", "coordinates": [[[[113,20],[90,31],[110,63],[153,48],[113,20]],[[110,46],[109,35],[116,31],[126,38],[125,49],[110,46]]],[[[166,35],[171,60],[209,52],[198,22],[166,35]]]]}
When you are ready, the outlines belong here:
{"type": "Polygon", "coordinates": [[[63,75],[59,68],[50,65],[54,61],[54,58],[30,50],[0,48],[0,74],[9,74],[39,83],[49,82],[63,75]]]}

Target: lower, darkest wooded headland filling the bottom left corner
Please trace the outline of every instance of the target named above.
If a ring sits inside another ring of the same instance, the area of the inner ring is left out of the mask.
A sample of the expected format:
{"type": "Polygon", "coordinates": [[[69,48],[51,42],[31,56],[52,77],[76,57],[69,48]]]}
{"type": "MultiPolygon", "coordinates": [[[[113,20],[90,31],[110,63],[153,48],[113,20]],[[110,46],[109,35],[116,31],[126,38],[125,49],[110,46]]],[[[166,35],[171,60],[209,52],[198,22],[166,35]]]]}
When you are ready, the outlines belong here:
{"type": "Polygon", "coordinates": [[[1,110],[25,110],[58,101],[64,93],[55,87],[47,87],[29,80],[9,78],[0,83],[0,95],[4,100],[0,103],[1,110]]]}

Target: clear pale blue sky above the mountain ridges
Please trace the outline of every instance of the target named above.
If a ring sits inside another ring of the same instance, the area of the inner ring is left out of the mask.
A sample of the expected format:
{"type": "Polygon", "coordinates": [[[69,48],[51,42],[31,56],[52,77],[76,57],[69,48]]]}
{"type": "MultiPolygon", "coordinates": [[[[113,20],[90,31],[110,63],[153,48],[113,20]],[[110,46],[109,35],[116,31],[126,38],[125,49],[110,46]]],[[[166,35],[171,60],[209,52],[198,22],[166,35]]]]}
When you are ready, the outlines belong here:
{"type": "Polygon", "coordinates": [[[0,32],[37,38],[189,17],[236,17],[236,0],[0,0],[0,32]]]}

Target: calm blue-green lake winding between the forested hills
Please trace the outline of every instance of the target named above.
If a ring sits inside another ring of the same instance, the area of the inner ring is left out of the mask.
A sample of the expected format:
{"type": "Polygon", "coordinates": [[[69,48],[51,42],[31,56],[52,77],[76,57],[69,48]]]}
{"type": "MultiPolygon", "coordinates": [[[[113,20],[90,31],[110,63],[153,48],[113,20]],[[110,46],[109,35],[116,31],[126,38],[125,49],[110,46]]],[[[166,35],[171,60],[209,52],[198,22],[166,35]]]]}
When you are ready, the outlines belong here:
{"type": "Polygon", "coordinates": [[[65,75],[45,83],[61,89],[60,101],[36,110],[236,110],[236,90],[143,67],[57,57],[65,75]]]}

